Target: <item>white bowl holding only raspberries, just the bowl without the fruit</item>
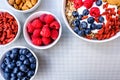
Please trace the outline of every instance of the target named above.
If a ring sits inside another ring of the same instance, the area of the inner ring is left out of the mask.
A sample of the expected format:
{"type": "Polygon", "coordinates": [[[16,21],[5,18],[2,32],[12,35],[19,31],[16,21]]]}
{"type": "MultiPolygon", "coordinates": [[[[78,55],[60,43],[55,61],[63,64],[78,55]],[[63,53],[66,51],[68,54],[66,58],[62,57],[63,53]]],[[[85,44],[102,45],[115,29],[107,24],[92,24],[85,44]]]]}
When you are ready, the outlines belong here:
{"type": "Polygon", "coordinates": [[[54,14],[52,14],[52,13],[50,13],[50,12],[47,12],[47,11],[39,11],[39,12],[35,12],[35,13],[33,13],[32,15],[30,15],[30,16],[27,18],[27,20],[26,20],[26,22],[25,22],[25,24],[24,24],[24,28],[23,28],[23,34],[24,34],[24,38],[25,38],[26,42],[27,42],[30,46],[32,46],[32,47],[34,47],[34,48],[36,48],[36,49],[48,49],[48,48],[51,48],[52,46],[54,46],[54,45],[58,42],[58,40],[59,40],[60,37],[61,37],[61,33],[62,33],[62,26],[61,26],[61,23],[60,23],[59,19],[58,19],[54,14]],[[32,43],[32,41],[31,41],[31,39],[30,39],[30,37],[29,37],[29,34],[28,34],[28,32],[27,32],[26,27],[27,27],[27,24],[28,24],[29,22],[31,22],[33,19],[35,19],[35,18],[37,18],[37,17],[40,17],[40,15],[42,15],[42,14],[51,14],[51,15],[53,15],[53,16],[55,17],[55,19],[56,19],[56,20],[59,22],[59,24],[60,24],[59,35],[58,35],[57,39],[56,39],[55,41],[53,41],[51,44],[49,44],[49,45],[36,46],[36,45],[34,45],[34,44],[32,43]]]}

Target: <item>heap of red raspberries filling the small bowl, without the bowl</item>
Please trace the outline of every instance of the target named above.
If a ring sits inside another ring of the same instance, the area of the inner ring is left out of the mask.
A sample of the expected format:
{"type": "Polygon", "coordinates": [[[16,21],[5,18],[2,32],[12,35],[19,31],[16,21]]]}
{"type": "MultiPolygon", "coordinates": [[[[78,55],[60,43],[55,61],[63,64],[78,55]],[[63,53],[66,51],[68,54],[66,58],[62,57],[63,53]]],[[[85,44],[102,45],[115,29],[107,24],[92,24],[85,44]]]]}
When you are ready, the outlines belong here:
{"type": "Polygon", "coordinates": [[[60,24],[51,14],[42,14],[27,25],[32,43],[37,46],[48,45],[57,39],[60,24]]]}

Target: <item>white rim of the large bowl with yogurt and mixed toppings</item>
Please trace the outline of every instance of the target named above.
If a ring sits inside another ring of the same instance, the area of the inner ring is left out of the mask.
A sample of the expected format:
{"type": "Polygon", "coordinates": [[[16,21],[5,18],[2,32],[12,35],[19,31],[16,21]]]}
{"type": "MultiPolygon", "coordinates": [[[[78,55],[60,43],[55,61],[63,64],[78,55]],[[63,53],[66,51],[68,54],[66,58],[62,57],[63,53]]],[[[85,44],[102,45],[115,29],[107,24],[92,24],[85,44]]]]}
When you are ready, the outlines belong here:
{"type": "Polygon", "coordinates": [[[87,39],[87,38],[84,38],[84,37],[80,37],[78,34],[76,34],[73,29],[70,27],[68,21],[67,21],[67,18],[66,18],[66,15],[65,15],[65,6],[66,6],[66,0],[62,0],[62,16],[63,16],[63,19],[64,19],[64,22],[65,24],[67,25],[67,28],[75,35],[77,36],[78,38],[84,40],[84,41],[87,41],[87,42],[94,42],[94,43],[102,43],[102,42],[108,42],[108,41],[112,41],[116,38],[118,38],[120,36],[120,32],[118,32],[115,36],[109,38],[109,39],[105,39],[105,40],[90,40],[90,39],[87,39]]]}

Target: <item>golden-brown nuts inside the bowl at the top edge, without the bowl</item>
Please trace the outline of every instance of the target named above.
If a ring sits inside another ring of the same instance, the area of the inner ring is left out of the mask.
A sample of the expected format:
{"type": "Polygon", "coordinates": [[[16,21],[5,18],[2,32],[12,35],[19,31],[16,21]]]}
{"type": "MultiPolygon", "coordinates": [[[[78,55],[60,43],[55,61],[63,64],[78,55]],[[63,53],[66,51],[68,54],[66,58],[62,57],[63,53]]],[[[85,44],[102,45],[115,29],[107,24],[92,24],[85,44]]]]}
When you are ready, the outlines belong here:
{"type": "Polygon", "coordinates": [[[32,8],[38,0],[8,0],[8,3],[18,10],[28,10],[32,8]]]}

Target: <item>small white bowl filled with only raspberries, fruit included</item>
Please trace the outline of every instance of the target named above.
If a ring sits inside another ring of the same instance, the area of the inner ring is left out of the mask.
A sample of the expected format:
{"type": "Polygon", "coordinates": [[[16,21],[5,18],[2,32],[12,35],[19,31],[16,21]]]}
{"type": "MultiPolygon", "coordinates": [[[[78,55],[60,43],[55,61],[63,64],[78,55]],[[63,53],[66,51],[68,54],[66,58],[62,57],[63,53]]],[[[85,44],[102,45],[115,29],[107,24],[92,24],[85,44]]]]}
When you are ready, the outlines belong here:
{"type": "Polygon", "coordinates": [[[26,42],[36,49],[48,49],[60,39],[62,26],[59,19],[47,11],[35,12],[23,28],[26,42]]]}

